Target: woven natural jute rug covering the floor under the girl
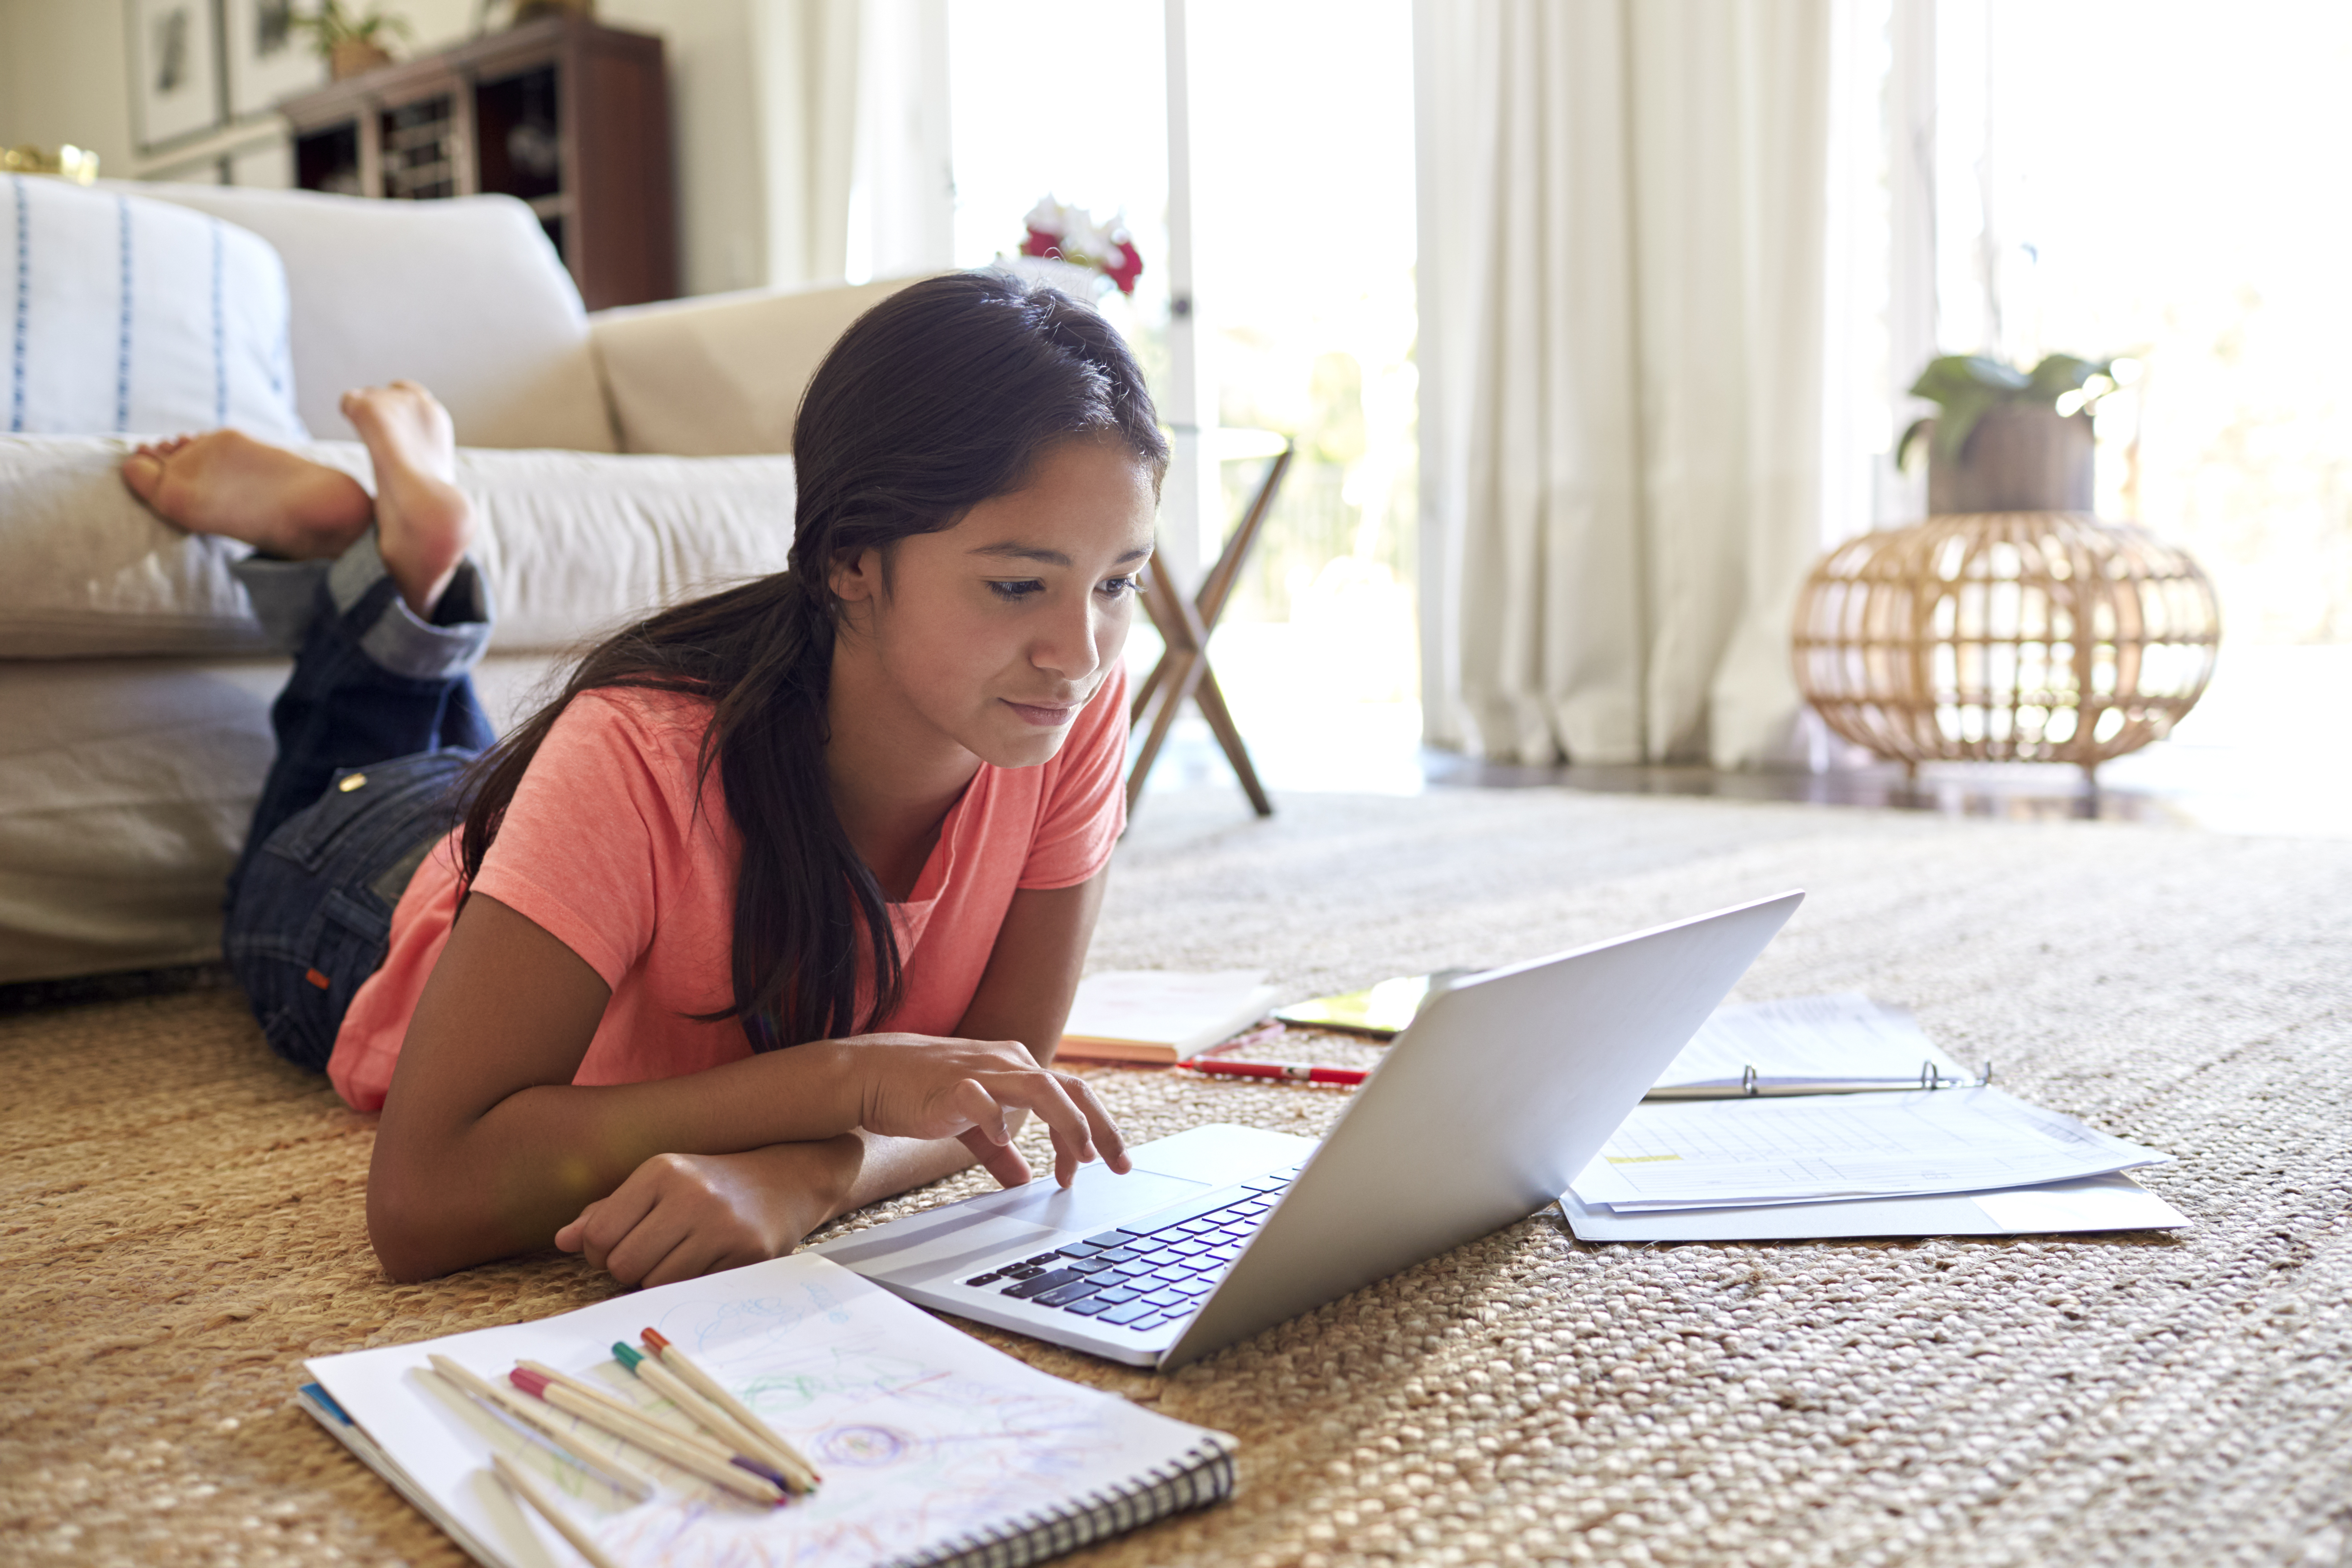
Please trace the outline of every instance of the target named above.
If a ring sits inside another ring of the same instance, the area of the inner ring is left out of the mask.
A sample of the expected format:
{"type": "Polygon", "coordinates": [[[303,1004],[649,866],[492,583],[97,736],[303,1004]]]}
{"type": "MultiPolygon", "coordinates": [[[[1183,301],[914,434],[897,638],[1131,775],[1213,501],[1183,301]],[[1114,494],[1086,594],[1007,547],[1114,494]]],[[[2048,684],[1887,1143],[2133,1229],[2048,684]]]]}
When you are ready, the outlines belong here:
{"type": "MultiPolygon", "coordinates": [[[[1552,790],[1256,823],[1164,795],[1091,961],[1263,964],[1305,994],[1788,886],[1811,898],[1740,994],[1915,1006],[2027,1098],[2176,1154],[2147,1182],[2192,1225],[1625,1248],[1545,1213],[1171,1378],[983,1331],[1242,1439],[1230,1505],[1070,1561],[2338,1563],[2352,844],[1552,790]]],[[[1345,1105],[1096,1077],[1136,1138],[1345,1105]]],[[[292,1406],[301,1359],[612,1291],[555,1255],[386,1284],[372,1121],[228,992],[0,1023],[0,1140],[14,1561],[461,1561],[292,1406]]]]}

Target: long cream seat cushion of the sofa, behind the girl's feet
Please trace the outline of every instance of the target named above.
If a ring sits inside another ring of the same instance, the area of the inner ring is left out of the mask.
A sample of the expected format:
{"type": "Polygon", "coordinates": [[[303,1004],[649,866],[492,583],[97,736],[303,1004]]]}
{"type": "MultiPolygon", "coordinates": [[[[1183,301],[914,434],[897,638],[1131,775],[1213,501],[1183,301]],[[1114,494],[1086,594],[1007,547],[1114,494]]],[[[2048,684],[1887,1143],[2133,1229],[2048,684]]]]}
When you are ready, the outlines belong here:
{"type": "MultiPolygon", "coordinates": [[[[369,482],[367,449],[299,451],[369,482]]],[[[129,442],[0,437],[0,658],[228,656],[268,644],[228,574],[245,545],[181,534],[120,477],[129,442]]],[[[793,458],[459,451],[499,597],[492,649],[564,649],[724,581],[779,571],[793,458]]]]}

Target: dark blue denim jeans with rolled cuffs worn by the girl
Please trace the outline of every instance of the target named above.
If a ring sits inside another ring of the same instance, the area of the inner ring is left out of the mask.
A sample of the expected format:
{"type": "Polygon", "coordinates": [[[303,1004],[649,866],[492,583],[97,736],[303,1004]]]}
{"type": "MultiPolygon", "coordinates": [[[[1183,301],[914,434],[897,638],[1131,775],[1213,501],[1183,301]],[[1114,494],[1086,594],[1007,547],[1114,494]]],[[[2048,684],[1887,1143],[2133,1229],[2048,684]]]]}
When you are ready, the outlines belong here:
{"type": "Polygon", "coordinates": [[[496,738],[475,698],[489,595],[473,562],[421,621],[374,529],[334,562],[235,567],[294,675],[270,708],[270,762],[228,875],[228,969],[270,1048],[325,1067],[350,997],[390,945],[393,905],[456,820],[456,780],[496,738]]]}

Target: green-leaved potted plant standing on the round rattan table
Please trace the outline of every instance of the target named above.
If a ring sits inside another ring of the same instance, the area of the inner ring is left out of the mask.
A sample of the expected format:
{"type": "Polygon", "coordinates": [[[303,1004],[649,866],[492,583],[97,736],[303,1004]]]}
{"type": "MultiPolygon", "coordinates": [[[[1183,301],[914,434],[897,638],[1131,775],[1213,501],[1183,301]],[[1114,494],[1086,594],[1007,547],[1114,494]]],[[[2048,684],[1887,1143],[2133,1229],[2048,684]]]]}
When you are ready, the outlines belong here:
{"type": "Polygon", "coordinates": [[[1990,355],[1929,360],[1912,383],[1938,414],[1912,421],[1896,463],[1926,437],[1926,510],[2089,512],[2091,409],[2117,388],[2117,360],[2049,355],[2030,371],[1990,355]]]}

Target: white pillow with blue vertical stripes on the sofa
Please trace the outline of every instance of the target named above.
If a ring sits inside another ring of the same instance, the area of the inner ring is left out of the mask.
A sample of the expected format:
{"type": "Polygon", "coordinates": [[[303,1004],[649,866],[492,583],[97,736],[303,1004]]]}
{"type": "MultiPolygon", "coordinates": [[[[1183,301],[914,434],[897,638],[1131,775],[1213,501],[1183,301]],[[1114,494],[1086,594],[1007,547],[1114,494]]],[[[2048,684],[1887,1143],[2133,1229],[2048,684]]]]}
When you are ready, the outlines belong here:
{"type": "Polygon", "coordinates": [[[0,181],[0,430],[306,437],[278,252],[120,188],[0,181]]]}

